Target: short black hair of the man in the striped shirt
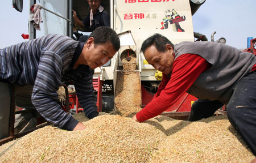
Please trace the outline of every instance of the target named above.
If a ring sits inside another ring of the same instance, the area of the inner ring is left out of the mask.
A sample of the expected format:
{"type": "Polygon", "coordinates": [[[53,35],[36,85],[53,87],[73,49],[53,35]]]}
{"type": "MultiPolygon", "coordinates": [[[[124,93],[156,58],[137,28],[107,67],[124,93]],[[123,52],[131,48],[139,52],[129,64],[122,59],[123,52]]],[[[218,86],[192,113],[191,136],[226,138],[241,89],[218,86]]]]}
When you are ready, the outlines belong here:
{"type": "Polygon", "coordinates": [[[113,45],[115,51],[118,51],[120,48],[120,40],[117,33],[110,27],[102,26],[94,29],[92,33],[90,33],[90,37],[94,38],[94,45],[105,44],[110,41],[113,45]]]}

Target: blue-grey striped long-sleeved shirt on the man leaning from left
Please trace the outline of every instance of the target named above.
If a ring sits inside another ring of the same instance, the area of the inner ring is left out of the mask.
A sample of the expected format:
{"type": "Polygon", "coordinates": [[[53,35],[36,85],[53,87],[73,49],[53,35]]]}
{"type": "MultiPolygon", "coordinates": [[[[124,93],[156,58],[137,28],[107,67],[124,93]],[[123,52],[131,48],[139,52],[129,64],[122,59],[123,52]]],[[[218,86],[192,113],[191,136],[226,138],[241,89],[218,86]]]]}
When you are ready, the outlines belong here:
{"type": "Polygon", "coordinates": [[[73,81],[85,115],[97,115],[94,70],[86,65],[73,69],[83,45],[70,37],[50,34],[0,49],[0,80],[34,85],[31,100],[36,110],[53,125],[73,130],[78,121],[57,103],[61,82],[73,81]]]}

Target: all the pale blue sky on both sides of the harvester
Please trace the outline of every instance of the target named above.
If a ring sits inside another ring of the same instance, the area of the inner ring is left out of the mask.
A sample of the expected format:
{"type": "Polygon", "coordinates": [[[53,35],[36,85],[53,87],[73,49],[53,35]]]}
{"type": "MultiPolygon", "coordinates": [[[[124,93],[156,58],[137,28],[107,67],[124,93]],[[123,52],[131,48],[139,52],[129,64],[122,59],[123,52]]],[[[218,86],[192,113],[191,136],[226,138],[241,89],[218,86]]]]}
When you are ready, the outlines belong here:
{"type": "MultiPolygon", "coordinates": [[[[27,0],[23,0],[23,12],[13,8],[12,0],[0,2],[0,48],[28,41],[21,37],[28,34],[28,13],[27,0]]],[[[192,19],[194,32],[205,35],[208,41],[216,31],[214,41],[224,37],[227,45],[245,49],[247,37],[256,38],[255,0],[206,0],[192,19]]]]}

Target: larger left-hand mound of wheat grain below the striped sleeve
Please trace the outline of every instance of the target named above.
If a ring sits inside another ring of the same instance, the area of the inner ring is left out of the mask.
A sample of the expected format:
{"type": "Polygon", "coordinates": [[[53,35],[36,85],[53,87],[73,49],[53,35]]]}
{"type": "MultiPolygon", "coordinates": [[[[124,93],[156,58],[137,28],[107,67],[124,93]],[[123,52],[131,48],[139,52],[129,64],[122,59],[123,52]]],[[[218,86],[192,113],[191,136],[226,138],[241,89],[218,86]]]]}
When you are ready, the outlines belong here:
{"type": "Polygon", "coordinates": [[[84,131],[47,126],[4,144],[0,162],[148,162],[166,137],[154,126],[120,115],[83,123],[84,131]]]}

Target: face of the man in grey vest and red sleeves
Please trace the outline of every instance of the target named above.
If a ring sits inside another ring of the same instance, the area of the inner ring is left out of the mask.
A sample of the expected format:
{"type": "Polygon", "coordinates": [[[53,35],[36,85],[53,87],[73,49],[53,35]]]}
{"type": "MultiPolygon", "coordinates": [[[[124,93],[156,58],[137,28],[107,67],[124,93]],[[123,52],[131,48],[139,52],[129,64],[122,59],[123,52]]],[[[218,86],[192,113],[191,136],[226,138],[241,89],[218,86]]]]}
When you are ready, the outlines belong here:
{"type": "Polygon", "coordinates": [[[174,55],[172,54],[172,46],[169,44],[166,45],[166,52],[159,52],[154,45],[151,45],[145,50],[144,57],[156,70],[163,72],[163,74],[170,74],[174,62],[174,55]]]}

